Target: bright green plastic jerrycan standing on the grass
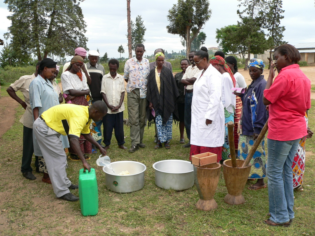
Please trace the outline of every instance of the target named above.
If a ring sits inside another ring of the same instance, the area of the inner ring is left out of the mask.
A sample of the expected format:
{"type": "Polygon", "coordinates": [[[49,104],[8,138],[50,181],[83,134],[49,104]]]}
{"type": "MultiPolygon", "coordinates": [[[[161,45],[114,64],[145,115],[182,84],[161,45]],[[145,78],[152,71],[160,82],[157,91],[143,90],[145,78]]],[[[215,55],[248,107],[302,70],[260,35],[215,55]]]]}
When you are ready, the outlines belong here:
{"type": "Polygon", "coordinates": [[[79,198],[83,216],[95,216],[98,213],[98,188],[95,169],[89,172],[79,171],[79,198]]]}

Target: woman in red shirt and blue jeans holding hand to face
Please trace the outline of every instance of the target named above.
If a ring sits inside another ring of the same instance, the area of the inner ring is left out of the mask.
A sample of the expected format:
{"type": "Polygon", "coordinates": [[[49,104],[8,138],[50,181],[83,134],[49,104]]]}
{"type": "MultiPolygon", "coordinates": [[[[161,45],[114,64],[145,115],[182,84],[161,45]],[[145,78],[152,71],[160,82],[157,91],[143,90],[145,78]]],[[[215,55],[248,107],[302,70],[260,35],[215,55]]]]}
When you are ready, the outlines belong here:
{"type": "Polygon", "coordinates": [[[275,48],[274,57],[263,97],[269,105],[266,175],[270,218],[265,223],[289,226],[294,218],[291,166],[300,139],[307,135],[304,115],[311,107],[311,82],[297,64],[301,55],[294,46],[275,48]],[[276,69],[280,72],[273,81],[276,69]]]}

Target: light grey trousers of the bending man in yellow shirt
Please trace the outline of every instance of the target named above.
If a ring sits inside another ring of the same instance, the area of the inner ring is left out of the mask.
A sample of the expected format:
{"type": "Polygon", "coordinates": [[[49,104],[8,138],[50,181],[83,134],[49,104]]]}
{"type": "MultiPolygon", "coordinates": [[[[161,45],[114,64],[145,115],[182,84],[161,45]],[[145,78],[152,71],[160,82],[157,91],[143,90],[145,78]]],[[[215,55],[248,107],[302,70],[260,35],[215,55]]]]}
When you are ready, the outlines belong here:
{"type": "Polygon", "coordinates": [[[56,197],[59,198],[70,193],[68,187],[70,187],[71,181],[67,178],[66,173],[67,156],[62,148],[60,133],[49,128],[40,118],[34,121],[33,132],[45,158],[56,197]]]}

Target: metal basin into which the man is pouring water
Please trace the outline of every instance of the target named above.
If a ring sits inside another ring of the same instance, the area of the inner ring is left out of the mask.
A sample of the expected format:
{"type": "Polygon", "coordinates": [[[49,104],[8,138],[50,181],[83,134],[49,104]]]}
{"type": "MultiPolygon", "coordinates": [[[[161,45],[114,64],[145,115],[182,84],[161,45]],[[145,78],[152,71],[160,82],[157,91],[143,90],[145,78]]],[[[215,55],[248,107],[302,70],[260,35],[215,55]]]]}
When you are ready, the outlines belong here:
{"type": "Polygon", "coordinates": [[[105,172],[105,183],[109,190],[116,193],[131,193],[140,190],[144,186],[144,171],[146,166],[136,161],[115,161],[111,163],[115,174],[112,174],[106,166],[103,167],[105,172]],[[122,171],[128,170],[130,175],[119,176],[122,171]]]}

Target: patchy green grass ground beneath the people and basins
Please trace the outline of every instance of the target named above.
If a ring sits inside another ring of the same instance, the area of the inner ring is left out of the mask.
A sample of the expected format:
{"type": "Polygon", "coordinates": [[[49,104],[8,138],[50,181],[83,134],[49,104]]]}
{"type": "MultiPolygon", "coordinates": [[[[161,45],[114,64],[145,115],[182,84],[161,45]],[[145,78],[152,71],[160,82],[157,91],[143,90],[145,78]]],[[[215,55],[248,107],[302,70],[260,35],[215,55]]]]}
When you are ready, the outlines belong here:
{"type": "MultiPolygon", "coordinates": [[[[2,87],[2,95],[7,86],[2,87]]],[[[18,93],[19,94],[19,93],[18,93]]],[[[21,96],[21,94],[20,94],[21,96]]],[[[125,104],[127,104],[125,99],[125,104]]],[[[309,111],[309,126],[315,131],[315,101],[309,111]]],[[[248,190],[254,182],[247,183],[243,205],[227,205],[227,194],[222,171],[215,193],[218,209],[198,211],[195,207],[199,196],[196,186],[185,191],[164,190],[154,182],[152,164],[159,160],[188,160],[189,149],[179,144],[179,128],[173,126],[171,149],[154,150],[154,127],[145,128],[146,148],[134,154],[112,144],[107,154],[112,161],[133,160],[144,163],[145,186],[128,194],[111,192],[105,186],[105,173],[95,163],[99,154],[93,154],[89,164],[95,168],[99,188],[99,213],[84,217],[80,202],[56,199],[51,185],[41,182],[42,174],[30,181],[20,173],[23,126],[19,122],[23,114],[16,108],[14,125],[0,139],[0,235],[315,235],[315,137],[306,141],[306,171],[304,192],[295,192],[295,219],[290,227],[271,227],[263,223],[268,213],[268,188],[248,190]]],[[[127,111],[124,112],[125,118],[127,111]]],[[[129,127],[124,127],[130,148],[129,127]]],[[[68,161],[67,174],[73,183],[78,182],[80,161],[68,161]]],[[[34,165],[32,163],[34,168],[34,165]]],[[[34,168],[35,169],[35,168],[34,168]]],[[[78,195],[77,190],[71,190],[78,195]]]]}

